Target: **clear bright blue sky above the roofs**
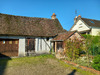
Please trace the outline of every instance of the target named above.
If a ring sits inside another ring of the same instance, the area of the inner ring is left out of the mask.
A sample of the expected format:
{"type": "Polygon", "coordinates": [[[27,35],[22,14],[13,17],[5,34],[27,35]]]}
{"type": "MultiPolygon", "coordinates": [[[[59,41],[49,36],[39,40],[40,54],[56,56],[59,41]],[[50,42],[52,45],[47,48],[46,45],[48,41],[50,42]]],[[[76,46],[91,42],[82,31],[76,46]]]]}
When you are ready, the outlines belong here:
{"type": "Polygon", "coordinates": [[[55,13],[69,31],[75,16],[100,20],[100,0],[0,0],[0,13],[50,19],[55,13]]]}

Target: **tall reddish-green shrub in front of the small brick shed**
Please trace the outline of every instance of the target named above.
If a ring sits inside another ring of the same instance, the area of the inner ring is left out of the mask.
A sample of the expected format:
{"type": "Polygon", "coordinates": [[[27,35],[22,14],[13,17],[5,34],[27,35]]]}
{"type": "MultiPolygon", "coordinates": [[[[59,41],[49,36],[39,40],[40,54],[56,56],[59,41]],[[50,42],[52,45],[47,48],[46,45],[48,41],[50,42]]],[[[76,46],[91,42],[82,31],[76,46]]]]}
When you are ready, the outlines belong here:
{"type": "Polygon", "coordinates": [[[66,56],[70,60],[77,59],[79,57],[80,52],[82,51],[82,41],[79,41],[78,39],[74,40],[67,40],[66,41],[66,56]]]}

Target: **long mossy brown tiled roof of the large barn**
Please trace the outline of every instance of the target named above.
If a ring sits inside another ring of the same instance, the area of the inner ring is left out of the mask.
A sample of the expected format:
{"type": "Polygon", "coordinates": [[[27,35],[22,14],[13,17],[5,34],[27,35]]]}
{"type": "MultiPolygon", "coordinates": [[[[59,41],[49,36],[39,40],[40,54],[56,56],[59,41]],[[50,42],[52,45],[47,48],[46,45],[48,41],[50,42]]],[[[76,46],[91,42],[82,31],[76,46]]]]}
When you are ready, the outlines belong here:
{"type": "Polygon", "coordinates": [[[65,31],[58,19],[0,14],[0,35],[49,37],[65,31]]]}

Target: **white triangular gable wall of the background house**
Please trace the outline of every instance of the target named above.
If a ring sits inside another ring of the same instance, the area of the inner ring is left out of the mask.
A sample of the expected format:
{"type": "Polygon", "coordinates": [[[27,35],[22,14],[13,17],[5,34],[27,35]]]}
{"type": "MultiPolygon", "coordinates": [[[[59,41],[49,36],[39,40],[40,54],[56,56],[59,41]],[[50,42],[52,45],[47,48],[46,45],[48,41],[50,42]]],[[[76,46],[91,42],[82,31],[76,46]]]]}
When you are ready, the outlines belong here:
{"type": "Polygon", "coordinates": [[[74,25],[74,27],[71,29],[71,31],[85,31],[85,30],[89,30],[90,28],[88,26],[86,26],[81,20],[79,20],[76,25],[74,25]]]}

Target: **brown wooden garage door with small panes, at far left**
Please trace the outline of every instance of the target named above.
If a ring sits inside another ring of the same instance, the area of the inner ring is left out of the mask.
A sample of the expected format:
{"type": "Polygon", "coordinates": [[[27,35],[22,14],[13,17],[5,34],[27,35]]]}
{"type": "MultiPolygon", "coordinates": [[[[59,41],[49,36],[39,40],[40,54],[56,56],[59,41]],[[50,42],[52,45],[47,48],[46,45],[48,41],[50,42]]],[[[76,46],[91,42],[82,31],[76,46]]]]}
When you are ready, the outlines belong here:
{"type": "Polygon", "coordinates": [[[0,39],[0,57],[18,56],[18,39],[0,39]]]}

